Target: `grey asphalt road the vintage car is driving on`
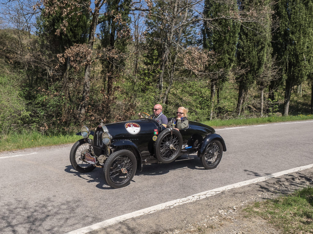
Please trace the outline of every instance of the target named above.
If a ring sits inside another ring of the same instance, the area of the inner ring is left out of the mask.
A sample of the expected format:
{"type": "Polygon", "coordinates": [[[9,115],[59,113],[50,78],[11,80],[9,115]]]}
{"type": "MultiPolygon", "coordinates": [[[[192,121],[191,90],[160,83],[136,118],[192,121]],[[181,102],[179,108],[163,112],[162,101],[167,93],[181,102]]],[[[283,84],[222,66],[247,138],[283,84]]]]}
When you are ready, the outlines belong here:
{"type": "Polygon", "coordinates": [[[217,129],[227,151],[206,170],[198,158],[151,164],[111,189],[101,168],[69,163],[71,145],[0,153],[0,233],[66,233],[146,207],[313,163],[313,121],[217,129]],[[19,156],[18,156],[19,155],[19,156]]]}

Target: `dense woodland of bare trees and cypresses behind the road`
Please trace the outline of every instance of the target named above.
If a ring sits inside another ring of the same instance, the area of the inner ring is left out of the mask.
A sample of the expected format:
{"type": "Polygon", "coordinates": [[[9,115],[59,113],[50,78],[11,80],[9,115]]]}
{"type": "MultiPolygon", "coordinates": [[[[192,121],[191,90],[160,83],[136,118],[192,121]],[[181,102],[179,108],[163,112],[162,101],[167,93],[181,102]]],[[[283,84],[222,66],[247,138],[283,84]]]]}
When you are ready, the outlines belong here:
{"type": "Polygon", "coordinates": [[[313,111],[312,0],[2,0],[0,134],[313,111]]]}

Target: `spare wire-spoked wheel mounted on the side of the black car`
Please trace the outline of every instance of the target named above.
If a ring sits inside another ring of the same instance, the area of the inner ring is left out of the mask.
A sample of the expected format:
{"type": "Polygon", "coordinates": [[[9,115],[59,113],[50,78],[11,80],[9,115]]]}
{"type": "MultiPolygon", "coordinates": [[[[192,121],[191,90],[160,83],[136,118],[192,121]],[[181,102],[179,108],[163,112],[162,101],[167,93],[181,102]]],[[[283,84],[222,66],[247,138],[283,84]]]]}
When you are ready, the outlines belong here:
{"type": "Polygon", "coordinates": [[[163,130],[154,144],[156,158],[162,163],[173,162],[182,150],[182,134],[176,129],[163,130]]]}

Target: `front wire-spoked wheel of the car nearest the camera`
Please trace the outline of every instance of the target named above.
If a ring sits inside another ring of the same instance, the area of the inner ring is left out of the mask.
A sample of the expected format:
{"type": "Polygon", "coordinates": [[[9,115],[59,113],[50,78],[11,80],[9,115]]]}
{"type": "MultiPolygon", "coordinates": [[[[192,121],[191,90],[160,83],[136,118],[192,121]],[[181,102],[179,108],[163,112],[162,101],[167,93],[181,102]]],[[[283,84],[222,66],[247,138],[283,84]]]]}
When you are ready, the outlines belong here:
{"type": "Polygon", "coordinates": [[[106,159],[103,173],[105,181],[112,188],[122,188],[128,185],[137,169],[135,155],[126,149],[115,151],[106,159]]]}

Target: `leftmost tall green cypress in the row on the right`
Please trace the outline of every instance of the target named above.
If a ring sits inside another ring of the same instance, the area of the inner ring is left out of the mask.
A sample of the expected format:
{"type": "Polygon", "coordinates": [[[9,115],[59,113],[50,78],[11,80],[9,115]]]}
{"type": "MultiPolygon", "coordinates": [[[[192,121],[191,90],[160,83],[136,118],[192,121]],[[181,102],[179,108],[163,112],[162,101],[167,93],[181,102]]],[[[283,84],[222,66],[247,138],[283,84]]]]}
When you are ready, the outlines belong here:
{"type": "Polygon", "coordinates": [[[204,16],[208,20],[213,20],[210,23],[204,22],[203,27],[203,48],[209,51],[214,51],[217,55],[217,61],[213,66],[208,67],[210,71],[218,73],[211,80],[211,115],[213,115],[214,97],[216,85],[220,86],[228,79],[228,73],[233,66],[235,60],[236,44],[238,41],[239,24],[227,17],[230,10],[238,11],[237,1],[232,2],[217,2],[215,0],[204,1],[204,16]],[[225,18],[220,18],[221,16],[225,18]],[[218,19],[216,19],[218,18],[218,19]]]}

